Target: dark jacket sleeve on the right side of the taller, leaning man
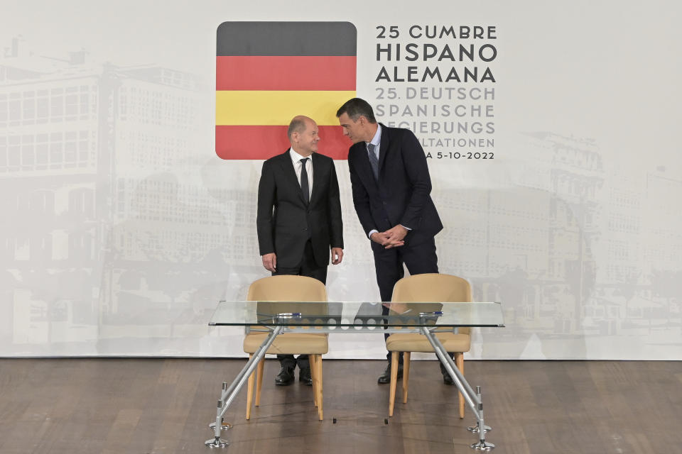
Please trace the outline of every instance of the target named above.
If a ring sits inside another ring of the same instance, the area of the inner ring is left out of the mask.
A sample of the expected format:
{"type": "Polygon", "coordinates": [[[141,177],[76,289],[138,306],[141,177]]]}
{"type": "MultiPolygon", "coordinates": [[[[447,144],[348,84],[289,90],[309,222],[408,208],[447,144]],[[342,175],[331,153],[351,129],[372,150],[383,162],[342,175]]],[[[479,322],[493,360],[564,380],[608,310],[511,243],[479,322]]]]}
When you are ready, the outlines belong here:
{"type": "Polygon", "coordinates": [[[412,186],[412,196],[400,218],[400,224],[416,230],[421,222],[424,206],[428,203],[429,194],[431,194],[431,177],[428,175],[424,150],[412,131],[404,131],[401,155],[405,172],[412,186]]]}

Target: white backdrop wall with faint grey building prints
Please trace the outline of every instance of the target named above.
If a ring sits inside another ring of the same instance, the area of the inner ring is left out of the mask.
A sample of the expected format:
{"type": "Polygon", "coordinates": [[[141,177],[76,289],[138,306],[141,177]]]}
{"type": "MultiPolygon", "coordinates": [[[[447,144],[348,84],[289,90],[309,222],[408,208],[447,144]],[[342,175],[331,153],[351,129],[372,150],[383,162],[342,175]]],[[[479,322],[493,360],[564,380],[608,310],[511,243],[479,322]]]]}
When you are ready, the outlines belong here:
{"type": "MultiPolygon", "coordinates": [[[[682,359],[681,6],[511,3],[4,0],[0,355],[242,355],[239,329],[207,321],[218,299],[244,299],[267,275],[261,161],[215,155],[216,28],[349,21],[357,96],[380,121],[406,121],[431,153],[441,272],[504,305],[507,328],[477,331],[470,358],[682,359]],[[495,32],[430,39],[411,37],[414,25],[495,32]],[[378,26],[399,36],[378,38],[378,26]],[[377,61],[389,43],[496,53],[377,61]],[[394,80],[409,66],[417,82],[394,80]],[[381,67],[390,80],[377,80],[381,67]],[[443,78],[455,67],[462,82],[422,81],[427,67],[443,78]],[[464,67],[479,79],[464,82],[464,67]],[[494,81],[481,80],[485,68],[494,81]],[[446,99],[448,87],[489,95],[446,99]],[[409,99],[421,89],[428,99],[409,99]],[[476,121],[492,126],[478,132],[476,121]],[[470,130],[443,132],[453,122],[470,130]]],[[[336,165],[346,248],[329,298],[379,299],[347,162],[336,165]]],[[[330,350],[384,357],[377,335],[332,336],[330,350]]]]}

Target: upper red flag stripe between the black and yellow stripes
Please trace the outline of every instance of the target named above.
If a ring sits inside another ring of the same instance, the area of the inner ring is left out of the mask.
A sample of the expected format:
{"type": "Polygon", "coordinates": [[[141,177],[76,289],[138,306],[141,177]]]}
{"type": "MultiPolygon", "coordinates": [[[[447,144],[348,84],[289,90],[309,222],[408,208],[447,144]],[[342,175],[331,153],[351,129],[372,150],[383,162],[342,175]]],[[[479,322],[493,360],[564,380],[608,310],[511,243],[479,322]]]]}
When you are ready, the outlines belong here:
{"type": "Polygon", "coordinates": [[[216,90],[355,89],[354,56],[216,57],[216,90]]]}

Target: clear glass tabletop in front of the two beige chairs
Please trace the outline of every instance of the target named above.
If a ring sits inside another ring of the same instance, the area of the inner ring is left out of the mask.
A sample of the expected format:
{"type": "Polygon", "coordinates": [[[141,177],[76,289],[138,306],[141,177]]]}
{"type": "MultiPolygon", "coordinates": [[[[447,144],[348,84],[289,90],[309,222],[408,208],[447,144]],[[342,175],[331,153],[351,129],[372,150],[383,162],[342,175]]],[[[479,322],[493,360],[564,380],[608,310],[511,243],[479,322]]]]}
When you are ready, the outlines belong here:
{"type": "Polygon", "coordinates": [[[504,326],[496,302],[220,301],[210,326],[504,326]],[[383,312],[383,314],[382,314],[383,312]]]}

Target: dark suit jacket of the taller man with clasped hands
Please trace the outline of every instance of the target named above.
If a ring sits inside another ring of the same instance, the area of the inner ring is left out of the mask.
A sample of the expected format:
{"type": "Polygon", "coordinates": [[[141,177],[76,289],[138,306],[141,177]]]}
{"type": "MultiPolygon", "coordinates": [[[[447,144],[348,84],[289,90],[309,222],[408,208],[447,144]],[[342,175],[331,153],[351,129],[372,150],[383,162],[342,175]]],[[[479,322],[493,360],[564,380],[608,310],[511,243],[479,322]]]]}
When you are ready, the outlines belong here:
{"type": "Polygon", "coordinates": [[[443,223],[429,195],[431,177],[419,141],[408,129],[381,125],[380,146],[378,182],[365,143],[355,143],[348,151],[353,204],[364,232],[401,224],[411,228],[406,245],[433,238],[443,223]]]}

